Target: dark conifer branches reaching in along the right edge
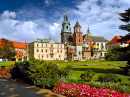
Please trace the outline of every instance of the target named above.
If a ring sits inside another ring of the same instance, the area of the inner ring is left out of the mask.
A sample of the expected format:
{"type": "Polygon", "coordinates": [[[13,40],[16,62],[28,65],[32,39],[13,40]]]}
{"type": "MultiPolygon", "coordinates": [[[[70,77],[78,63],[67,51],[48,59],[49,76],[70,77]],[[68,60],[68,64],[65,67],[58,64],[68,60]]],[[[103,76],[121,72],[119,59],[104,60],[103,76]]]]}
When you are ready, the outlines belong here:
{"type": "MultiPolygon", "coordinates": [[[[119,26],[119,29],[130,32],[130,8],[128,10],[125,10],[125,13],[119,13],[119,15],[122,17],[119,19],[126,23],[126,25],[119,26]]],[[[128,33],[128,35],[126,36],[122,36],[122,38],[119,39],[118,41],[122,43],[129,40],[130,40],[130,33],[128,33]]],[[[120,51],[123,53],[127,52],[127,54],[124,57],[126,57],[128,65],[124,69],[130,75],[130,42],[129,46],[121,48],[120,51]]]]}

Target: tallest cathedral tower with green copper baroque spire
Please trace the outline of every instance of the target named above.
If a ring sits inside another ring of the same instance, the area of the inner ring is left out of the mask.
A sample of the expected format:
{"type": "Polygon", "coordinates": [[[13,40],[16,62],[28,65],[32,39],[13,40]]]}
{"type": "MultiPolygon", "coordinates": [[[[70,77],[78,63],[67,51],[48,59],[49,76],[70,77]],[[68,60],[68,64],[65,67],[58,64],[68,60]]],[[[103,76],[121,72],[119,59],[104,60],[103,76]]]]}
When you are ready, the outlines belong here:
{"type": "Polygon", "coordinates": [[[66,44],[67,40],[65,39],[65,35],[71,35],[71,27],[70,21],[68,21],[68,15],[64,15],[64,21],[62,22],[62,29],[61,29],[61,43],[66,44]]]}

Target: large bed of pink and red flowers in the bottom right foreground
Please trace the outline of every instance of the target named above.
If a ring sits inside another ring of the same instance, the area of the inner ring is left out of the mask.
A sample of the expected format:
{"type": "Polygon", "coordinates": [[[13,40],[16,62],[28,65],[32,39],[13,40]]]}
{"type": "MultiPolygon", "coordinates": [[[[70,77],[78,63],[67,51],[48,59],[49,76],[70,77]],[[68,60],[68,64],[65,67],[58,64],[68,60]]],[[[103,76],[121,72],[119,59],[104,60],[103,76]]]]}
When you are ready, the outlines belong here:
{"type": "Polygon", "coordinates": [[[130,97],[130,94],[120,93],[113,89],[98,89],[85,84],[66,84],[64,82],[58,82],[57,87],[53,87],[52,92],[67,97],[130,97]]]}

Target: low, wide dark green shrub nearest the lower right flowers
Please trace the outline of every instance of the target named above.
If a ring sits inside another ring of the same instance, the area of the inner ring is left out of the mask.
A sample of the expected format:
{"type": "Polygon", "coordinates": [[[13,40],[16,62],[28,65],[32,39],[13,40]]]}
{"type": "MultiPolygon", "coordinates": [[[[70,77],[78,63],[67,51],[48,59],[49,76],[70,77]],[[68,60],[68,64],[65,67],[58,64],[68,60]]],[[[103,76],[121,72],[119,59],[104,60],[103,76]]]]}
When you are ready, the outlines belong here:
{"type": "Polygon", "coordinates": [[[108,73],[106,75],[99,75],[98,81],[100,82],[121,82],[121,78],[118,78],[115,74],[108,73]]]}

